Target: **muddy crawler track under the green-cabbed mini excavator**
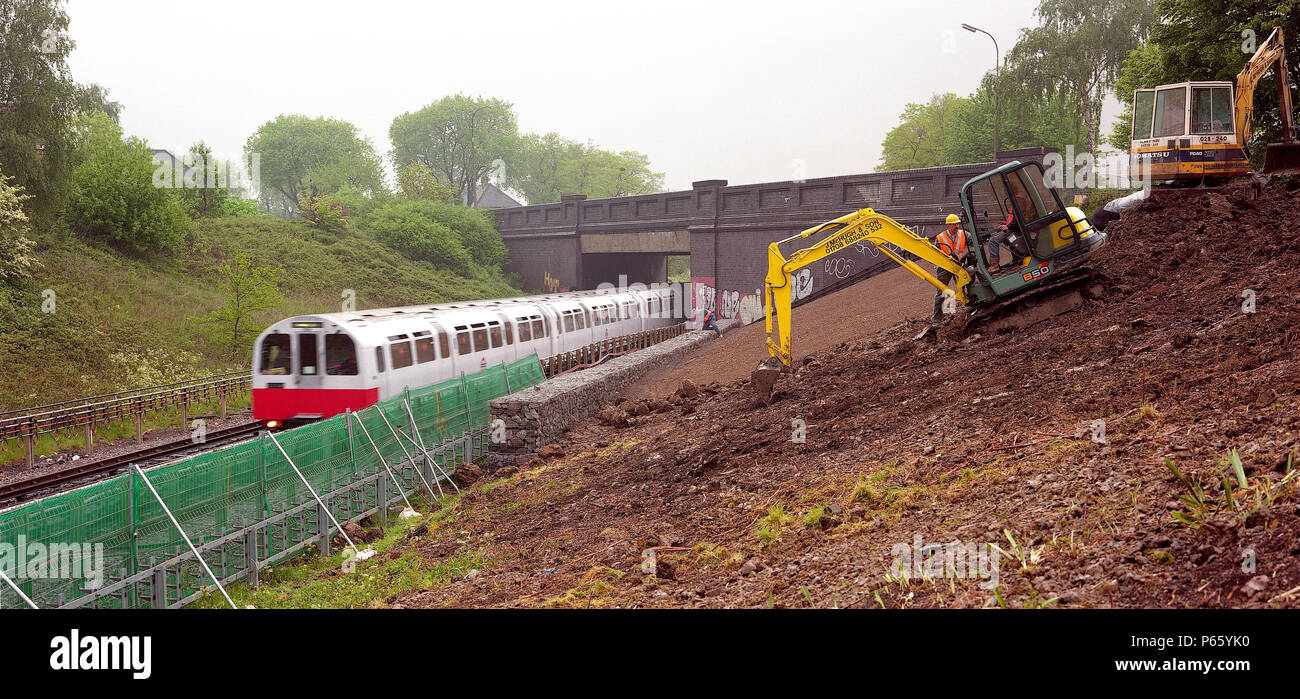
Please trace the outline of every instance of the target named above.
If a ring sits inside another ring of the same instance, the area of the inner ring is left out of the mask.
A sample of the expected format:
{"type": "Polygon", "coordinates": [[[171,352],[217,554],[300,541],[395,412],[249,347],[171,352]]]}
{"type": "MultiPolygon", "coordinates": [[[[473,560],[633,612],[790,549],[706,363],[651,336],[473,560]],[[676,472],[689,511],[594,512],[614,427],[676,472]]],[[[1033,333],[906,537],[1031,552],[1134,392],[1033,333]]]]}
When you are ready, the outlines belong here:
{"type": "Polygon", "coordinates": [[[996,335],[1028,327],[1050,317],[1069,313],[1092,299],[1101,299],[1112,286],[1110,277],[1092,268],[1078,268],[1069,275],[1037,286],[1026,294],[979,308],[967,318],[962,337],[996,335]]]}

